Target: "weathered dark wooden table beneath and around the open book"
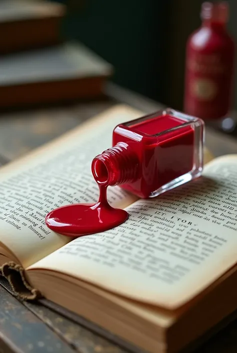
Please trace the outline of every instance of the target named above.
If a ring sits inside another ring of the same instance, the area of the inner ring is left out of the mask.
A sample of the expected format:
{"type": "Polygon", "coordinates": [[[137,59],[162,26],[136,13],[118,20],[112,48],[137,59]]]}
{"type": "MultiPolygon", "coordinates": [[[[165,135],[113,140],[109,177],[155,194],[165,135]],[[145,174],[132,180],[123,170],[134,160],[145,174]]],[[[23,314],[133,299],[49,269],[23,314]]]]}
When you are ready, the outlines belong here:
{"type": "MultiPolygon", "coordinates": [[[[117,104],[126,103],[146,113],[161,106],[112,84],[103,100],[63,107],[1,113],[0,154],[12,160],[74,128],[84,120],[117,104]]],[[[237,140],[211,129],[206,131],[208,149],[219,156],[237,153],[237,140]]],[[[0,160],[1,162],[1,160],[0,160]]],[[[85,324],[86,326],[86,324],[85,324]]],[[[185,333],[184,333],[185,334],[185,333]]],[[[65,318],[42,304],[22,303],[0,287],[1,352],[126,353],[74,319],[65,318]]],[[[212,337],[195,353],[236,353],[237,321],[212,337]]]]}

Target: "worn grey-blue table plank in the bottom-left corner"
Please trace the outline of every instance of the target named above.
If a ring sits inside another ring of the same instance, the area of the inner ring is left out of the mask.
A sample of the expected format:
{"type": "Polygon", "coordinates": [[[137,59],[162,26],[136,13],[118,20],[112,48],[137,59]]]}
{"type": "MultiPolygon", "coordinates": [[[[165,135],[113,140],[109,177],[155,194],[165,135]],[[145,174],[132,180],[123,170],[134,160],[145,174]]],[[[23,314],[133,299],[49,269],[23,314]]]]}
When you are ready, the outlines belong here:
{"type": "Polygon", "coordinates": [[[0,353],[73,353],[73,349],[0,287],[0,353]]]}

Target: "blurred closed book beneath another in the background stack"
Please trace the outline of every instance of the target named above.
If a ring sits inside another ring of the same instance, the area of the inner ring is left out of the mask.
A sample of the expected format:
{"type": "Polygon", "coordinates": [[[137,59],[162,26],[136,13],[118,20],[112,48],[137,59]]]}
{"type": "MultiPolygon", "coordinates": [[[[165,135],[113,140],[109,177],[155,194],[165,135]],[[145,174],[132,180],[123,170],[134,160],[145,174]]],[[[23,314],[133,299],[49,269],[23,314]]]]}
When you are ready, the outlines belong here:
{"type": "Polygon", "coordinates": [[[79,43],[4,56],[0,108],[96,98],[111,73],[111,65],[79,43]]]}

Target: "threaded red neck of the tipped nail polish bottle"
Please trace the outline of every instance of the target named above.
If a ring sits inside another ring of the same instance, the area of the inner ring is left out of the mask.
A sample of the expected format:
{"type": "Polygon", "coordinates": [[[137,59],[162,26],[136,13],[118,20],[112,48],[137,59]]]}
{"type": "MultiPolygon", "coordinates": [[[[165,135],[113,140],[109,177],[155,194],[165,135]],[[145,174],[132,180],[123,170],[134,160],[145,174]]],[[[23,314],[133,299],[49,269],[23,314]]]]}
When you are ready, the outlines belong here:
{"type": "Polygon", "coordinates": [[[93,177],[97,184],[120,185],[138,177],[139,160],[136,153],[124,142],[108,148],[91,163],[93,177]]]}

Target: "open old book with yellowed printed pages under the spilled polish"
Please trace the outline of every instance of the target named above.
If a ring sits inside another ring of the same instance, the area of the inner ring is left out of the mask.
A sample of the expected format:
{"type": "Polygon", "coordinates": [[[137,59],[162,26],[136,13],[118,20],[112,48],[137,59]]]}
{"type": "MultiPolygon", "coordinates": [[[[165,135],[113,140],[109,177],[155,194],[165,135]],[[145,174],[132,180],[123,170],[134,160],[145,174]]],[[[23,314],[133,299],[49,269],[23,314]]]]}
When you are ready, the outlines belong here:
{"type": "Polygon", "coordinates": [[[40,292],[147,351],[176,352],[237,308],[237,155],[154,199],[110,187],[129,219],[109,231],[71,241],[44,224],[97,200],[92,158],[141,115],[116,106],[1,168],[0,265],[15,291],[21,275],[22,297],[40,292]]]}

